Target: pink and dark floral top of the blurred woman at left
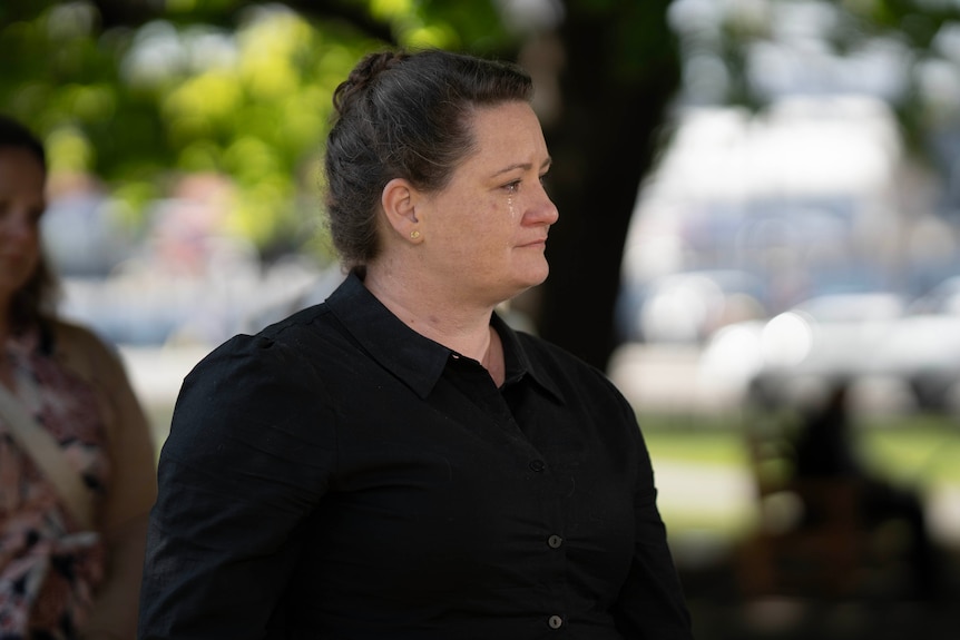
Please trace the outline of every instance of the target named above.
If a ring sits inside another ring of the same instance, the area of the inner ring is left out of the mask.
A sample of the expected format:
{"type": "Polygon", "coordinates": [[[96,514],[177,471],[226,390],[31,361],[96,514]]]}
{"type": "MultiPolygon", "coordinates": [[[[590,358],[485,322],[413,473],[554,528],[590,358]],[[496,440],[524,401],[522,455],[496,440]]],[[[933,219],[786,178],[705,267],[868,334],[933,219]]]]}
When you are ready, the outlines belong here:
{"type": "MultiPolygon", "coordinates": [[[[100,503],[111,466],[96,390],[55,360],[43,338],[33,331],[3,345],[16,380],[11,391],[100,503]]],[[[75,638],[105,562],[99,534],[81,530],[0,415],[0,638],[75,638]]]]}

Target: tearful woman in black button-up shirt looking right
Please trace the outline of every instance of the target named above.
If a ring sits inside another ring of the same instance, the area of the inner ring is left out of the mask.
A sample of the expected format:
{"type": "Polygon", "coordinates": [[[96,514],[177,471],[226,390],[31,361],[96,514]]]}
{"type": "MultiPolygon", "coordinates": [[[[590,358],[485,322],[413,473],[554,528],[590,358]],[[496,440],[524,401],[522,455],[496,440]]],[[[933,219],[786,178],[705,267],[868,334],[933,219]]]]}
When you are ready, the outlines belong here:
{"type": "Polygon", "coordinates": [[[140,639],[687,639],[634,412],[511,329],[557,209],[530,78],[365,57],[334,93],[349,275],[184,381],[140,639]]]}

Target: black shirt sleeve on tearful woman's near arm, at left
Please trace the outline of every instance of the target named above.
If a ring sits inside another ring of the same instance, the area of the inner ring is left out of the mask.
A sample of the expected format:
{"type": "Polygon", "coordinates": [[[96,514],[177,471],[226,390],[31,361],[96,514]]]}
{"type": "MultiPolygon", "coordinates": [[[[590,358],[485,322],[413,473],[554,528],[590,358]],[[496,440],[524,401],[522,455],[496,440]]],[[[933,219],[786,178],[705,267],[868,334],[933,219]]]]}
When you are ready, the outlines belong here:
{"type": "Polygon", "coordinates": [[[141,640],[263,638],[280,623],[332,466],[322,396],[302,358],[265,337],[228,341],[185,378],[159,460],[141,640]]]}

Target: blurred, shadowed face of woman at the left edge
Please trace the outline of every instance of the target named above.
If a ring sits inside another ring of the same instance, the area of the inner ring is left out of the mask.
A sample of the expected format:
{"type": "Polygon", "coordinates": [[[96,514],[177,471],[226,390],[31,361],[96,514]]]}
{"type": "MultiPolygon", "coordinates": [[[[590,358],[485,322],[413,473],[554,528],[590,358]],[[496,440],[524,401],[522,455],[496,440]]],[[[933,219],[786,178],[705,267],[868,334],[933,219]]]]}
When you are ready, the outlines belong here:
{"type": "Polygon", "coordinates": [[[46,174],[27,149],[0,148],[0,301],[7,303],[40,260],[46,174]]]}

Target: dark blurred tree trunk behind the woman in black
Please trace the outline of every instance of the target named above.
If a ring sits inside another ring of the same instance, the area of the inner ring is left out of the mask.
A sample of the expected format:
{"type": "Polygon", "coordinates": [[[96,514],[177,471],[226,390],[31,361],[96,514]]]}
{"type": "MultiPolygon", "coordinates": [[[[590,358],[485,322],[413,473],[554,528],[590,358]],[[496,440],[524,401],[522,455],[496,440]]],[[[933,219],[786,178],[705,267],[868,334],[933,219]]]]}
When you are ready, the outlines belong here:
{"type": "Polygon", "coordinates": [[[633,7],[594,14],[581,4],[589,2],[568,3],[562,111],[545,126],[560,219],[547,246],[550,276],[535,292],[536,323],[545,338],[605,370],[617,346],[627,228],[678,87],[679,53],[666,36],[668,2],[637,2],[641,17],[633,7]]]}

